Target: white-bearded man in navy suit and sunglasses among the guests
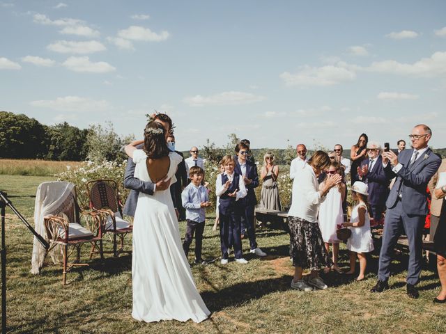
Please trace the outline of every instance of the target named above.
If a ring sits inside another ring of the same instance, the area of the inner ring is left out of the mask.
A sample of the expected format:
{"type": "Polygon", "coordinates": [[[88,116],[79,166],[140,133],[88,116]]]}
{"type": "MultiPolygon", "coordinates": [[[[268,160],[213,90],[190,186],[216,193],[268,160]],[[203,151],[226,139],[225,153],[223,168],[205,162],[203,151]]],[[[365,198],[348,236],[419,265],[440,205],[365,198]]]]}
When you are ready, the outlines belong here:
{"type": "MultiPolygon", "coordinates": [[[[367,159],[361,162],[357,168],[357,173],[362,182],[369,186],[370,215],[374,218],[376,224],[380,224],[381,216],[385,212],[385,201],[389,196],[390,180],[387,179],[383,167],[383,158],[381,154],[381,145],[375,141],[367,143],[367,159]]],[[[390,168],[387,164],[386,168],[390,168]]]]}

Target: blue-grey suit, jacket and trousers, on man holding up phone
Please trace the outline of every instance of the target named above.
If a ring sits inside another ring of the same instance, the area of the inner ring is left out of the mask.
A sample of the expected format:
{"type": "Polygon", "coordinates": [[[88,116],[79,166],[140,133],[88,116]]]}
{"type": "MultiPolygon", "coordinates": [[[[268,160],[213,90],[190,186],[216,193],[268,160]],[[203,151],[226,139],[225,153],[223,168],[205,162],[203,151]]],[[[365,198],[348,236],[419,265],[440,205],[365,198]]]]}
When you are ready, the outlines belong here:
{"type": "Polygon", "coordinates": [[[406,282],[418,283],[422,267],[422,230],[428,213],[426,187],[440,166],[441,159],[429,148],[409,166],[413,150],[403,150],[398,161],[402,168],[394,173],[385,168],[389,180],[397,177],[390,191],[385,214],[383,245],[379,257],[378,280],[390,276],[394,246],[401,232],[406,231],[409,243],[409,267],[406,282]]]}

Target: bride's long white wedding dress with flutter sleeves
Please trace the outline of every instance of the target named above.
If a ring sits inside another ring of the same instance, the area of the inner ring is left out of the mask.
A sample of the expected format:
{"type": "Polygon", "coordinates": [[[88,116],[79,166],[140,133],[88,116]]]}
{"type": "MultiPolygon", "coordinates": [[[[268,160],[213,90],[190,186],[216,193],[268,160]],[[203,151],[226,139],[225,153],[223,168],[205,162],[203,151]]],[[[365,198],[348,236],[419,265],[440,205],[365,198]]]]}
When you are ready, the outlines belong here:
{"type": "MultiPolygon", "coordinates": [[[[151,181],[146,158],[143,150],[134,151],[134,176],[151,181]]],[[[171,152],[169,158],[167,177],[173,184],[181,157],[171,152]]],[[[153,196],[139,193],[132,235],[132,317],[146,322],[206,319],[210,312],[195,287],[169,189],[155,190],[153,196]]]]}

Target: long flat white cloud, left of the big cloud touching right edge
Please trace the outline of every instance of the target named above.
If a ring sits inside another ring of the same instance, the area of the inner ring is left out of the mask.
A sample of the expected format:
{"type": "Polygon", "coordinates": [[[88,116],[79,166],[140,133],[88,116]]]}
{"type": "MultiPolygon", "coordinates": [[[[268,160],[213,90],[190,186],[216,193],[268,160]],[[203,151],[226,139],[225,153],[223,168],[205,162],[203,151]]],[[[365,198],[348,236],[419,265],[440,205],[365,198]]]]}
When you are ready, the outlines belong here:
{"type": "Polygon", "coordinates": [[[345,67],[326,65],[323,67],[300,67],[300,71],[291,74],[284,72],[280,78],[287,86],[332,86],[343,81],[352,81],[356,78],[355,72],[345,67]]]}

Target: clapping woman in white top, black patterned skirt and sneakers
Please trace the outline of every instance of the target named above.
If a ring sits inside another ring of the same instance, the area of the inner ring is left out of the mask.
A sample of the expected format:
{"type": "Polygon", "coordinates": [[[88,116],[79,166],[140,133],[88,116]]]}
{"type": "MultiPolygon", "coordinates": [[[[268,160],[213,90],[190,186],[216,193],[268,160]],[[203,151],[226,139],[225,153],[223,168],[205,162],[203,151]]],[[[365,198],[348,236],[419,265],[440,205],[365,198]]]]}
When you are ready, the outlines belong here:
{"type": "Polygon", "coordinates": [[[330,257],[325,250],[321,230],[318,226],[318,211],[321,202],[333,186],[342,180],[339,174],[330,174],[322,189],[317,177],[330,166],[330,158],[323,151],[316,151],[308,164],[293,182],[293,203],[288,212],[288,225],[292,243],[294,277],[291,287],[302,291],[326,289],[327,285],[318,276],[318,269],[330,267],[330,257]],[[303,269],[311,274],[302,279],[303,269]]]}

